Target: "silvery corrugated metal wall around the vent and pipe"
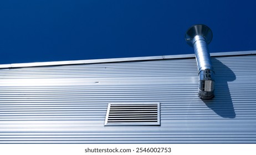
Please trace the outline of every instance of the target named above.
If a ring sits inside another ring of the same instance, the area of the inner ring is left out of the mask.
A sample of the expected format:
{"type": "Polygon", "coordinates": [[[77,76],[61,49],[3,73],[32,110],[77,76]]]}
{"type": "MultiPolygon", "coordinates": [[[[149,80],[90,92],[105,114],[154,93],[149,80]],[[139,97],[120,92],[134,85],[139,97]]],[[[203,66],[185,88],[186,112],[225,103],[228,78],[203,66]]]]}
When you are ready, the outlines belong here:
{"type": "Polygon", "coordinates": [[[0,143],[256,143],[256,55],[0,70],[0,143]],[[161,126],[104,126],[109,102],[161,102],[161,126]]]}

